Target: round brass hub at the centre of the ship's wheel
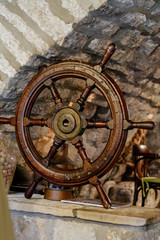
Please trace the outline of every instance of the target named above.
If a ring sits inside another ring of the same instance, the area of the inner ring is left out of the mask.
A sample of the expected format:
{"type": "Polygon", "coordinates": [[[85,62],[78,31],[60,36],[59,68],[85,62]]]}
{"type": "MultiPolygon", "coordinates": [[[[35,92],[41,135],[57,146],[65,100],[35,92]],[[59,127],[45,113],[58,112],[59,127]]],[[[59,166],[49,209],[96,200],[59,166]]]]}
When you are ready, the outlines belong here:
{"type": "Polygon", "coordinates": [[[70,107],[60,109],[53,120],[53,130],[62,140],[71,140],[81,131],[81,118],[78,112],[70,107]]]}

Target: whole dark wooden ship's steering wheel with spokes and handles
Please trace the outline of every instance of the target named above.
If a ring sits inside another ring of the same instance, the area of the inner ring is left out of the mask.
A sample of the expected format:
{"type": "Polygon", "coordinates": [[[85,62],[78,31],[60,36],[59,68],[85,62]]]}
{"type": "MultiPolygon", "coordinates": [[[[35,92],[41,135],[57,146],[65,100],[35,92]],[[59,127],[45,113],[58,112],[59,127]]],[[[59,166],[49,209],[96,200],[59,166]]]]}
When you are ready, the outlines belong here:
{"type": "Polygon", "coordinates": [[[16,128],[19,149],[29,167],[35,172],[35,178],[25,193],[31,198],[39,181],[42,179],[59,186],[79,186],[91,183],[97,188],[105,208],[111,206],[99,178],[106,174],[117,162],[126,142],[127,132],[133,128],[153,129],[153,122],[133,122],[128,118],[127,106],[121,90],[115,81],[105,73],[104,66],[115,51],[110,44],[100,64],[92,66],[78,61],[64,61],[49,67],[41,66],[39,73],[24,89],[17,106],[17,113],[12,118],[0,118],[1,124],[11,124],[16,128]],[[66,105],[60,95],[57,82],[64,79],[84,81],[86,87],[75,102],[66,105]],[[48,89],[55,103],[56,111],[47,119],[35,119],[31,112],[38,96],[48,89]],[[110,119],[92,120],[84,115],[85,104],[89,95],[96,89],[104,97],[110,110],[110,119]],[[53,144],[45,157],[37,151],[30,129],[32,126],[46,126],[54,131],[53,144]],[[108,129],[109,137],[101,154],[91,161],[83,143],[86,129],[108,129]],[[57,150],[69,141],[82,160],[81,167],[63,170],[51,166],[57,150]]]}

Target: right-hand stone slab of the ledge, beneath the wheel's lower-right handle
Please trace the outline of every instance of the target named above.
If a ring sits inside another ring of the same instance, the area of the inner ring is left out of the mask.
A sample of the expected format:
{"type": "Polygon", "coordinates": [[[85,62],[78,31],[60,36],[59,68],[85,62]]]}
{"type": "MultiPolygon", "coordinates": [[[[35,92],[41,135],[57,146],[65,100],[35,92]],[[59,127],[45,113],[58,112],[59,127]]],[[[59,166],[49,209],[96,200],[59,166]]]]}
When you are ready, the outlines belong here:
{"type": "Polygon", "coordinates": [[[125,207],[116,209],[83,208],[76,210],[77,218],[112,224],[145,226],[160,221],[160,209],[125,207]]]}

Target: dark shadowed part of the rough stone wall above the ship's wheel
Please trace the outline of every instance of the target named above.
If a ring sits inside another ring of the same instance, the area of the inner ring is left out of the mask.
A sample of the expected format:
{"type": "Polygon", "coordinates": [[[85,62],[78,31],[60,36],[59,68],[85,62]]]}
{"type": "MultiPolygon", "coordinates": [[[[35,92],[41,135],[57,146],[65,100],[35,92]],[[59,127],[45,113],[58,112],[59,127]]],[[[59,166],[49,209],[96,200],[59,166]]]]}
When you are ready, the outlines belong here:
{"type": "MultiPolygon", "coordinates": [[[[97,64],[108,44],[114,42],[117,50],[106,71],[124,93],[130,118],[146,120],[153,116],[157,122],[160,117],[159,23],[158,1],[106,1],[74,24],[73,31],[65,37],[62,46],[54,44],[44,55],[32,56],[17,71],[10,79],[8,90],[0,96],[3,106],[0,113],[15,114],[19,97],[40,64],[50,65],[68,59],[97,64]]],[[[150,141],[153,143],[151,136],[150,141]]],[[[160,149],[158,144],[156,146],[160,149]]]]}

